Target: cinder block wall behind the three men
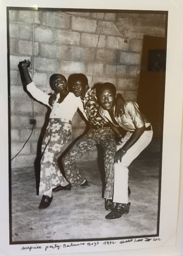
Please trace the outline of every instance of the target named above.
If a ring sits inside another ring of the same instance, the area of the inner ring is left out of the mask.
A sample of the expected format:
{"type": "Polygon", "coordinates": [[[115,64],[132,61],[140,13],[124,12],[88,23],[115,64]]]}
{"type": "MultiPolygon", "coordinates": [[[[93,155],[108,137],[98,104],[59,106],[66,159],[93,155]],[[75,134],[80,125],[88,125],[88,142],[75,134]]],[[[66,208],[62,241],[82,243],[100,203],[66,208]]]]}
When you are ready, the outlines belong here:
{"type": "MultiPolygon", "coordinates": [[[[107,12],[35,12],[35,84],[52,92],[49,77],[61,73],[84,73],[93,87],[109,81],[125,99],[137,99],[143,35],[165,36],[165,15],[107,12]]],[[[32,61],[33,11],[9,11],[10,99],[12,157],[31,134],[32,101],[23,90],[18,63],[32,61]]],[[[31,72],[31,70],[30,70],[31,72]]],[[[47,108],[34,101],[35,130],[23,150],[12,160],[12,168],[33,166],[38,138],[47,108]]],[[[85,122],[73,118],[70,142],[83,133],[85,122]]],[[[69,143],[70,143],[69,142],[69,143]]],[[[69,143],[64,147],[66,148],[69,143]]],[[[95,160],[93,148],[80,160],[95,160]]]]}

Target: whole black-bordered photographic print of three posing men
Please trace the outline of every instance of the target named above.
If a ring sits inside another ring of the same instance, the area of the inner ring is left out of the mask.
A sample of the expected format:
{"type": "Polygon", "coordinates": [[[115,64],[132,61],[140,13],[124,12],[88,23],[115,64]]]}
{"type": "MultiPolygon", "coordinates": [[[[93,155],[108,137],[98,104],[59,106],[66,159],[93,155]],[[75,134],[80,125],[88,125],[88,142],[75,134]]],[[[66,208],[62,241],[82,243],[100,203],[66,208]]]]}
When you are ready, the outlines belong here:
{"type": "Polygon", "coordinates": [[[161,241],[168,15],[7,6],[9,244],[21,253],[161,241]]]}

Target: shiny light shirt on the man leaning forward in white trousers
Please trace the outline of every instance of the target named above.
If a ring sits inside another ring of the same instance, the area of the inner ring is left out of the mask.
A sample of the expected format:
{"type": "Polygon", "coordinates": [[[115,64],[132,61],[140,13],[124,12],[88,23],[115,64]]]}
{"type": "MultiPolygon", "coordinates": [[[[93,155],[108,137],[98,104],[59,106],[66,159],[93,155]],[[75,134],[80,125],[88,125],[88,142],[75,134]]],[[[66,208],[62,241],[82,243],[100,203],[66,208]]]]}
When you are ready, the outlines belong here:
{"type": "MultiPolygon", "coordinates": [[[[133,132],[135,131],[135,129],[141,128],[144,125],[145,127],[148,127],[149,125],[151,125],[150,122],[145,120],[142,113],[139,111],[139,106],[136,102],[131,100],[125,100],[124,110],[125,112],[122,114],[122,116],[114,117],[114,118],[116,122],[119,124],[119,126],[124,128],[126,131],[133,132]]],[[[115,112],[115,108],[114,108],[114,112],[115,112]]],[[[107,110],[100,107],[99,113],[106,122],[108,122],[107,120],[108,118],[110,122],[113,123],[113,125],[117,126],[111,119],[110,114],[107,110]]]]}

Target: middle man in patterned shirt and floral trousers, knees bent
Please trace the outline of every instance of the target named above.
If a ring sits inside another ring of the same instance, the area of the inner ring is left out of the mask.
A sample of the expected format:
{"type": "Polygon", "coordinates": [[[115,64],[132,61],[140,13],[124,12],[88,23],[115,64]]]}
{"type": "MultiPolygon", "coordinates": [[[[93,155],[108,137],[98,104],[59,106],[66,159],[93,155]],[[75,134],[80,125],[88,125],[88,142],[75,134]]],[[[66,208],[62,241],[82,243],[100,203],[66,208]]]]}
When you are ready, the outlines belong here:
{"type": "MultiPolygon", "coordinates": [[[[81,96],[84,112],[90,123],[90,130],[79,139],[63,158],[63,166],[67,180],[72,187],[87,186],[87,180],[81,176],[76,160],[82,157],[94,145],[100,144],[104,149],[105,160],[105,209],[113,209],[113,178],[114,178],[114,155],[116,153],[116,140],[114,133],[99,114],[96,89],[88,87],[88,80],[84,74],[73,74],[68,80],[70,90],[76,97],[81,96]]],[[[119,95],[116,114],[122,110],[123,99],[119,95]]],[[[59,188],[57,189],[57,191],[59,188]]]]}

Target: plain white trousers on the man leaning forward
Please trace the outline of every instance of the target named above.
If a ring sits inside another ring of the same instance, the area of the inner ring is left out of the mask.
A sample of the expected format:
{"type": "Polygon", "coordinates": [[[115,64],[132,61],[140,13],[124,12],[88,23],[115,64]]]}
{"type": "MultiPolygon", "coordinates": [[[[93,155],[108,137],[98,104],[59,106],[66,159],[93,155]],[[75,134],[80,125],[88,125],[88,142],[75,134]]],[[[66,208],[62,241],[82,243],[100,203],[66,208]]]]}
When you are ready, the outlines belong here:
{"type": "MultiPolygon", "coordinates": [[[[127,132],[122,139],[122,144],[117,145],[117,150],[130,139],[132,133],[127,132]]],[[[114,191],[113,202],[119,204],[128,203],[128,166],[151,142],[153,131],[144,131],[139,140],[128,149],[122,157],[122,161],[114,164],[114,191]]]]}

